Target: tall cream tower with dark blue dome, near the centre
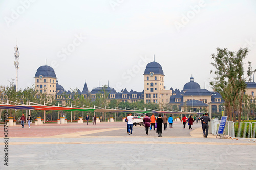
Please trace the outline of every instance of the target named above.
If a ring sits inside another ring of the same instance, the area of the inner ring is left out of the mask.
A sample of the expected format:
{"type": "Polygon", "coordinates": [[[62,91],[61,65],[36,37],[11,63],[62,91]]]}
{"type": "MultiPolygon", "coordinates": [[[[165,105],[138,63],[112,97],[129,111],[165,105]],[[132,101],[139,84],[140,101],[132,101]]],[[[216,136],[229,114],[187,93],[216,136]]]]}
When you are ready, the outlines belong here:
{"type": "Polygon", "coordinates": [[[162,66],[155,61],[148,63],[144,71],[144,102],[166,104],[171,95],[172,90],[164,86],[162,66]]]}

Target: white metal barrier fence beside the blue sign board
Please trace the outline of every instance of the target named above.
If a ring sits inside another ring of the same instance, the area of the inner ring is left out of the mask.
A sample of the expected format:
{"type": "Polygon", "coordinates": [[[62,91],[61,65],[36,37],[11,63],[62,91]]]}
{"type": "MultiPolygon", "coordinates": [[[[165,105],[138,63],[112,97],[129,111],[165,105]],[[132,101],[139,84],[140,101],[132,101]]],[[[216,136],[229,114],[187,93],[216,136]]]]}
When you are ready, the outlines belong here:
{"type": "MultiPolygon", "coordinates": [[[[212,122],[212,134],[216,135],[220,121],[212,122]]],[[[227,121],[225,126],[225,134],[233,138],[251,139],[251,141],[256,142],[256,122],[232,122],[227,121]]]]}

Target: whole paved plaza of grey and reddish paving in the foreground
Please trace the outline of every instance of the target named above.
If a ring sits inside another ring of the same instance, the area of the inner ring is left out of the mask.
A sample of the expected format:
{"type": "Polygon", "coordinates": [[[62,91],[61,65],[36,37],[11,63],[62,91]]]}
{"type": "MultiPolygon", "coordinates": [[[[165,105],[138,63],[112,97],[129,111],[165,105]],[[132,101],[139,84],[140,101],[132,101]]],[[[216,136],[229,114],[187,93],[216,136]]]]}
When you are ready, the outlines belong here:
{"type": "Polygon", "coordinates": [[[203,138],[201,124],[181,123],[162,136],[143,126],[127,135],[125,122],[17,125],[8,127],[8,167],[0,145],[0,169],[256,169],[256,143],[248,140],[203,138]]]}

